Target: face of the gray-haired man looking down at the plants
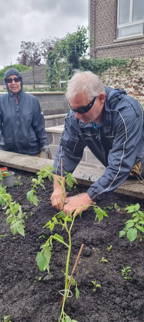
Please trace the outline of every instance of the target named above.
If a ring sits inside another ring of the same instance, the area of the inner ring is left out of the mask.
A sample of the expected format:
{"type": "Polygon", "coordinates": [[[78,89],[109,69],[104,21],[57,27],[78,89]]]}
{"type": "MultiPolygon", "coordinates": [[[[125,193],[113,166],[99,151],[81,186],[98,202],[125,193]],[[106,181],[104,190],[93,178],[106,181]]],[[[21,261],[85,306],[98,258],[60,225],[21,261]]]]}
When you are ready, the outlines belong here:
{"type": "MultiPolygon", "coordinates": [[[[92,108],[88,112],[83,114],[76,112],[75,118],[81,119],[83,123],[90,123],[95,120],[99,122],[102,115],[104,101],[105,101],[105,95],[103,93],[100,93],[95,99],[95,102],[92,108]]],[[[91,100],[87,99],[86,94],[84,92],[77,94],[74,101],[69,101],[70,106],[72,106],[74,109],[78,109],[82,106],[86,106],[90,102],[91,100]]]]}

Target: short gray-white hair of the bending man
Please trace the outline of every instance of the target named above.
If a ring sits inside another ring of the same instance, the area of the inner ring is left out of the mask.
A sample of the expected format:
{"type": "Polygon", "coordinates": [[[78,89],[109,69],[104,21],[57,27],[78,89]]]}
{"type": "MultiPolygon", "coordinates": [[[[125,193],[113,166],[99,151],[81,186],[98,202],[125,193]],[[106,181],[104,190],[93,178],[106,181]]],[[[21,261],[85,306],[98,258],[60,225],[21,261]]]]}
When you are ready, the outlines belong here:
{"type": "Polygon", "coordinates": [[[85,92],[87,99],[92,100],[99,93],[105,93],[104,85],[92,71],[75,70],[74,76],[68,81],[66,99],[73,101],[78,93],[85,92]]]}

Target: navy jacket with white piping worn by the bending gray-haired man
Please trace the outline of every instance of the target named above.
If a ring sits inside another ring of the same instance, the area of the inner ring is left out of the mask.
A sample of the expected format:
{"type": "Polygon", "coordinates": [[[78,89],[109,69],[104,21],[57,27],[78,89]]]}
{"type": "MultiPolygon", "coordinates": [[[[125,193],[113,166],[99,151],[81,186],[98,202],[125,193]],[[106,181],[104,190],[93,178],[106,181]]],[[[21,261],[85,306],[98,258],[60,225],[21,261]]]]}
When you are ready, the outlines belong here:
{"type": "MultiPolygon", "coordinates": [[[[105,86],[105,103],[97,131],[92,122],[85,124],[69,111],[54,159],[55,173],[73,173],[83,156],[84,147],[106,167],[104,174],[87,193],[95,202],[108,197],[130,175],[133,165],[144,156],[143,109],[124,90],[105,86]]],[[[93,170],[94,171],[94,170],[93,170]]]]}

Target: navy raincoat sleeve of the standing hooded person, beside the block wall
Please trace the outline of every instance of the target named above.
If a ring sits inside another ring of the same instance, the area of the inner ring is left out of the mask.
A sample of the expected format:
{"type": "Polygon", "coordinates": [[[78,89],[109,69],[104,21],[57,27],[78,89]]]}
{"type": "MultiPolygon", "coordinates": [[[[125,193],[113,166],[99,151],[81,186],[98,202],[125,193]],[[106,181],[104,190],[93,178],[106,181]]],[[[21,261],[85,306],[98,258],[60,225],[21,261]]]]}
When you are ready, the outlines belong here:
{"type": "Polygon", "coordinates": [[[33,128],[36,133],[36,137],[39,139],[42,150],[49,148],[47,133],[45,131],[45,120],[44,115],[39,104],[38,99],[35,98],[34,104],[34,117],[33,117],[33,128]]]}

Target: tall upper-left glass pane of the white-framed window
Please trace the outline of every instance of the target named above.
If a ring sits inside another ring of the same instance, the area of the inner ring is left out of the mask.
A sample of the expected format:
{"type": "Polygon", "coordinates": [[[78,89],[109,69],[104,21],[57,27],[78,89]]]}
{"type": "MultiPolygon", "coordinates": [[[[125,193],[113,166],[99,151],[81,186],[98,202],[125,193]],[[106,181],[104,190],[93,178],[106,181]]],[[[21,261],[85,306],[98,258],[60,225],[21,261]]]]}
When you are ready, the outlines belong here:
{"type": "Polygon", "coordinates": [[[130,0],[119,0],[119,24],[129,23],[129,17],[130,17],[130,0]]]}

